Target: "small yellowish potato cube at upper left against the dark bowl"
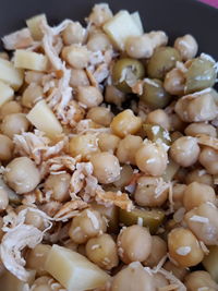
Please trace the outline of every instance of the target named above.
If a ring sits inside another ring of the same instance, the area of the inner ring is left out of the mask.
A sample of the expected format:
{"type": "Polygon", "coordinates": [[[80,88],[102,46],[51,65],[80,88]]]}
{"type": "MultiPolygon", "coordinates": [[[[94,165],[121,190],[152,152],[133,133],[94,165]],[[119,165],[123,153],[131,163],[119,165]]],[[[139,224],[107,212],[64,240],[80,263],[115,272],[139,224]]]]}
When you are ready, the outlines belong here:
{"type": "Polygon", "coordinates": [[[35,15],[26,20],[26,25],[28,26],[34,40],[40,40],[44,36],[40,29],[40,23],[43,21],[47,22],[46,14],[35,15]]]}

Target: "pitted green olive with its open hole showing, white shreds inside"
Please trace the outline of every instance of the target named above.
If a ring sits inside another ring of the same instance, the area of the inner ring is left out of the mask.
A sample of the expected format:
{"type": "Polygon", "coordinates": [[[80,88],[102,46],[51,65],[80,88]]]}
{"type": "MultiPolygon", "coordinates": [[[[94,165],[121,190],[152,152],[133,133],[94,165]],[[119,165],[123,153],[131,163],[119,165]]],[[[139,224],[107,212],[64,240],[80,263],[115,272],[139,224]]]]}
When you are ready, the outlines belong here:
{"type": "Polygon", "coordinates": [[[124,93],[132,93],[130,85],[144,76],[145,69],[143,63],[134,59],[120,59],[112,68],[113,85],[124,93]]]}

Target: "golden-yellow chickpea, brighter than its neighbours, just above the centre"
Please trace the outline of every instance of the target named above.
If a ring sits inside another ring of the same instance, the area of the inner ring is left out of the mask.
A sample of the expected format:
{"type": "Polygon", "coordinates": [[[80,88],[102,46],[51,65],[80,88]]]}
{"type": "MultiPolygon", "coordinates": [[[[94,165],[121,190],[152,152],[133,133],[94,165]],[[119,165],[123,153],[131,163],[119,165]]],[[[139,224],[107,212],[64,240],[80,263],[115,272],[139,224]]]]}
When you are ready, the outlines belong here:
{"type": "Polygon", "coordinates": [[[113,118],[110,128],[116,135],[124,137],[140,131],[142,119],[135,117],[131,109],[126,109],[113,118]]]}

